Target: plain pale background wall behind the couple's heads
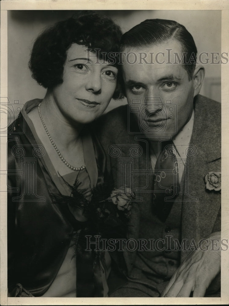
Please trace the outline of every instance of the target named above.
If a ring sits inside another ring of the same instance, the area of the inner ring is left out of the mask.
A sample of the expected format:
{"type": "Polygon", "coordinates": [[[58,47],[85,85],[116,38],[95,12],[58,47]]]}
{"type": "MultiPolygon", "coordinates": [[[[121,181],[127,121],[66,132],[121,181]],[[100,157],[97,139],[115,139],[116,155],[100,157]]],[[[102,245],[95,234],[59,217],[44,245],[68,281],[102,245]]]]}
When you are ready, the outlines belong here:
{"type": "MultiPolygon", "coordinates": [[[[14,100],[25,103],[31,99],[44,97],[46,89],[32,79],[28,69],[33,41],[45,27],[80,12],[82,11],[8,11],[8,98],[11,103],[14,100]]],[[[111,17],[120,25],[123,33],[145,19],[175,20],[183,24],[193,35],[198,54],[201,52],[221,53],[221,11],[219,10],[104,10],[96,12],[111,17]]],[[[209,91],[208,82],[208,80],[218,80],[219,83],[220,65],[208,63],[204,67],[206,80],[201,94],[220,102],[220,86],[209,91]]],[[[125,103],[127,103],[126,99],[111,101],[106,111],[125,103]]]]}

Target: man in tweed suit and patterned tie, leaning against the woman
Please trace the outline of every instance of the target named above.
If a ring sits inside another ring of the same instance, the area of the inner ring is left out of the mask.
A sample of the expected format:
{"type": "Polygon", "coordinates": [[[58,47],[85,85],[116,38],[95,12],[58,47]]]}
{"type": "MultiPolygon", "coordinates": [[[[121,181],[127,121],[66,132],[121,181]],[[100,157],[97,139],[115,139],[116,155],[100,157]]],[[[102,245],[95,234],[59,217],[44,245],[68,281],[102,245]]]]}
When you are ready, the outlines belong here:
{"type": "Polygon", "coordinates": [[[129,105],[99,133],[114,184],[135,193],[129,238],[140,244],[111,296],[220,296],[220,103],[199,95],[205,71],[181,24],[146,20],[121,51],[129,105]]]}

